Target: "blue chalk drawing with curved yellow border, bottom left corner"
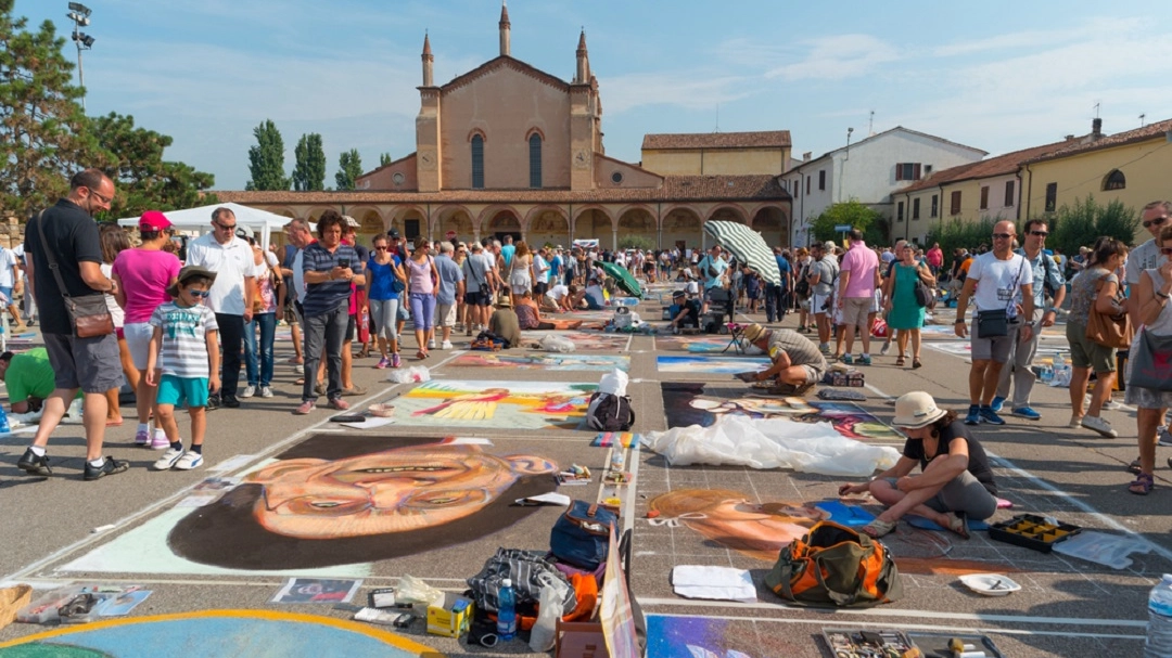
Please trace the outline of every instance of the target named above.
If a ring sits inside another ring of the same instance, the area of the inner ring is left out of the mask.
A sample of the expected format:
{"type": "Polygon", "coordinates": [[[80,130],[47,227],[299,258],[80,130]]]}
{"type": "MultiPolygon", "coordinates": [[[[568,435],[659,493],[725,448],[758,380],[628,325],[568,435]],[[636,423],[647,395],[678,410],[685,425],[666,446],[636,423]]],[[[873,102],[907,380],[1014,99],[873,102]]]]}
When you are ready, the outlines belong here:
{"type": "Polygon", "coordinates": [[[377,628],[316,615],[206,610],[63,626],[0,643],[2,658],[154,658],[159,647],[185,658],[349,656],[443,658],[377,628]]]}

